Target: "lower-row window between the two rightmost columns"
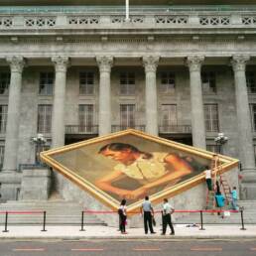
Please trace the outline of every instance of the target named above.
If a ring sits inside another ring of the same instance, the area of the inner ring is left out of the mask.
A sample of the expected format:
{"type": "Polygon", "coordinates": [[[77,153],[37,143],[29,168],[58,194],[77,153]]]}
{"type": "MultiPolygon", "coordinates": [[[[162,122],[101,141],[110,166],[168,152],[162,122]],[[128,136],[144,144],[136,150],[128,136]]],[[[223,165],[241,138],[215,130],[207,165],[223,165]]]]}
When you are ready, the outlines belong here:
{"type": "Polygon", "coordinates": [[[206,132],[218,132],[217,104],[204,104],[204,121],[206,132]]]}

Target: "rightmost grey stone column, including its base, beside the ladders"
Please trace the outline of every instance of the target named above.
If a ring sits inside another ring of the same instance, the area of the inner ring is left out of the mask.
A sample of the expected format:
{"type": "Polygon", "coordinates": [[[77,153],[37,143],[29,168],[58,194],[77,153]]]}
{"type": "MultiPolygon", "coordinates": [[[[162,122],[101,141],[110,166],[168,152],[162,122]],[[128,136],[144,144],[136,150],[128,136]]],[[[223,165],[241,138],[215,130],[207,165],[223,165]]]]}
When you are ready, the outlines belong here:
{"type": "Polygon", "coordinates": [[[231,64],[234,70],[239,157],[243,171],[241,195],[243,199],[255,199],[256,169],[245,76],[248,61],[247,56],[234,56],[231,64]]]}

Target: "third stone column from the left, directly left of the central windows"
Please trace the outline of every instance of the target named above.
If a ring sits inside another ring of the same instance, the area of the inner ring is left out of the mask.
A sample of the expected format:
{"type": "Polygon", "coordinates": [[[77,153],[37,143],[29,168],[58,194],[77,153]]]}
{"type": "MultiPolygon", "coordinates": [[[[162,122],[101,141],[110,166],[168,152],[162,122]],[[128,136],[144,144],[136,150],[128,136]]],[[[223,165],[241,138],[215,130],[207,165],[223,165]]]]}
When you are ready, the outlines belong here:
{"type": "Polygon", "coordinates": [[[113,58],[101,56],[96,58],[99,67],[99,110],[98,133],[99,136],[111,133],[111,80],[110,73],[113,58]]]}

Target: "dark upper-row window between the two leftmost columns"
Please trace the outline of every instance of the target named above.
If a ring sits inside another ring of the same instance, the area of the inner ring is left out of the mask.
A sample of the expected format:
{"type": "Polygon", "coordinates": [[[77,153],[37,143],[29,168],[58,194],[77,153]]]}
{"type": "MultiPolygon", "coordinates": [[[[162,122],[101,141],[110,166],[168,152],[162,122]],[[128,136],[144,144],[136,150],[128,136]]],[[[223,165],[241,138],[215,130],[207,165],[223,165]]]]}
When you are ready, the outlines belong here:
{"type": "Polygon", "coordinates": [[[39,81],[39,94],[40,95],[53,95],[54,89],[54,72],[41,72],[39,81]]]}

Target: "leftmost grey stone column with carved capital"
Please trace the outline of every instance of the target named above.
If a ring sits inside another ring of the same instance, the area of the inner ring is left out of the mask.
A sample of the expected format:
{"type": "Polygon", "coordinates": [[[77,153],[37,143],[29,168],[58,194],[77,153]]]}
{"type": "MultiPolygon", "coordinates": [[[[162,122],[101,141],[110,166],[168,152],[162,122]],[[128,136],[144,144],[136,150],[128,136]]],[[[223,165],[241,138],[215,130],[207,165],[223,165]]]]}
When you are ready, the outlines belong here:
{"type": "Polygon", "coordinates": [[[5,135],[4,171],[17,170],[17,154],[19,148],[19,117],[22,86],[22,71],[25,65],[22,57],[7,58],[11,67],[9,88],[8,116],[5,135]]]}

